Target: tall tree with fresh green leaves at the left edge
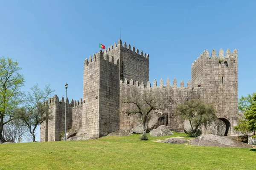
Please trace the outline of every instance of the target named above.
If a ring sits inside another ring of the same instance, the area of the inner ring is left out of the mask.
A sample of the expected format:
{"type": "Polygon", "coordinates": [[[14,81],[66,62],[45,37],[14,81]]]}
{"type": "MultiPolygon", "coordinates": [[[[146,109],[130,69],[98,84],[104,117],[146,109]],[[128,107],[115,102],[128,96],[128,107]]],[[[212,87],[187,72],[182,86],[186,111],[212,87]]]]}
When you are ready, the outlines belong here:
{"type": "Polygon", "coordinates": [[[20,88],[24,86],[24,77],[20,70],[17,60],[0,58],[0,143],[6,142],[2,134],[3,126],[16,119],[15,108],[22,102],[20,88]]]}

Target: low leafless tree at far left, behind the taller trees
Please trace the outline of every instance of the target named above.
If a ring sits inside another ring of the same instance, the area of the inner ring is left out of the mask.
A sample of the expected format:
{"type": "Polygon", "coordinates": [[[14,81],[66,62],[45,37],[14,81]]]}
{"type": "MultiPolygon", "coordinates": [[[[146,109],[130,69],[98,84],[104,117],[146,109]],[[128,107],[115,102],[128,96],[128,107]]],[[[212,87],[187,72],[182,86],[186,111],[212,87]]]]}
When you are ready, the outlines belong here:
{"type": "Polygon", "coordinates": [[[4,126],[3,136],[7,142],[20,143],[29,142],[29,130],[27,127],[22,125],[19,119],[12,120],[4,126]]]}

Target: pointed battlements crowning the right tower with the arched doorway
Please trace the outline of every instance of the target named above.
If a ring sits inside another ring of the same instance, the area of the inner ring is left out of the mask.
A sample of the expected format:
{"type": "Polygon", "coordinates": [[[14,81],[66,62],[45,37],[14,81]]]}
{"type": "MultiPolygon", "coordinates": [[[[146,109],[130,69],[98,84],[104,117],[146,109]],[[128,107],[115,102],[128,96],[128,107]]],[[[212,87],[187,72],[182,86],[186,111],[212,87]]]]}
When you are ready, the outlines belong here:
{"type": "Polygon", "coordinates": [[[225,59],[225,60],[233,60],[233,59],[237,59],[238,58],[238,51],[237,49],[233,50],[233,53],[230,52],[230,49],[228,48],[226,51],[226,55],[224,56],[224,51],[221,48],[220,51],[218,52],[218,56],[216,54],[215,49],[212,50],[211,53],[211,57],[209,57],[209,51],[208,50],[204,50],[203,54],[200,54],[199,57],[197,58],[197,60],[194,60],[194,62],[192,63],[191,68],[195,67],[196,65],[198,65],[198,62],[201,62],[203,59],[225,59]]]}

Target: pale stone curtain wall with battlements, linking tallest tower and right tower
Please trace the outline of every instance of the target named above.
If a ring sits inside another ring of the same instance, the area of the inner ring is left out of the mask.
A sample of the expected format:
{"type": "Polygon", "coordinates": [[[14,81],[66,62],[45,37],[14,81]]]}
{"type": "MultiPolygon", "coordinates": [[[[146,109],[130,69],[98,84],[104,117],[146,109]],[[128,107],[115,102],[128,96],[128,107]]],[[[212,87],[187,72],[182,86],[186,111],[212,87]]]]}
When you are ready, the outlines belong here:
{"type": "MultiPolygon", "coordinates": [[[[191,86],[190,80],[187,82],[187,87],[184,87],[183,80],[180,82],[180,87],[177,87],[177,80],[173,80],[173,85],[170,85],[170,80],[167,79],[166,85],[163,85],[163,80],[160,80],[160,85],[157,86],[157,81],[154,80],[153,87],[151,87],[150,82],[146,84],[144,82],[134,82],[132,79],[128,81],[125,79],[124,82],[120,81],[120,129],[131,130],[132,128],[140,125],[140,115],[129,115],[127,113],[122,113],[122,110],[129,108],[130,105],[122,103],[122,97],[131,93],[132,87],[137,87],[141,91],[151,90],[154,94],[158,94],[163,97],[164,100],[168,100],[166,108],[160,110],[159,112],[168,114],[168,126],[172,130],[183,132],[183,122],[180,120],[179,116],[175,115],[174,110],[176,105],[189,100],[189,99],[200,99],[203,94],[203,88],[191,86]],[[157,93],[156,93],[157,92],[157,93]]],[[[152,111],[153,112],[153,111],[152,111]]]]}

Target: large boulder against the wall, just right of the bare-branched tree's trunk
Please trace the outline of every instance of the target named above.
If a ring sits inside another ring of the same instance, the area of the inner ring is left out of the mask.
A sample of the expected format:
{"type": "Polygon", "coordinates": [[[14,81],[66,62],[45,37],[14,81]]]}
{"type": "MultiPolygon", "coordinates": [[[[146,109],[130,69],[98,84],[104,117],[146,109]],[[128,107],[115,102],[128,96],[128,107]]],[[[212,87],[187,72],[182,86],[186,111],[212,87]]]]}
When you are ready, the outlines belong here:
{"type": "Polygon", "coordinates": [[[168,123],[168,115],[158,112],[158,113],[149,113],[147,122],[146,122],[146,128],[147,132],[150,132],[152,129],[156,129],[160,125],[166,125],[168,123]]]}

